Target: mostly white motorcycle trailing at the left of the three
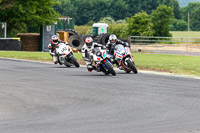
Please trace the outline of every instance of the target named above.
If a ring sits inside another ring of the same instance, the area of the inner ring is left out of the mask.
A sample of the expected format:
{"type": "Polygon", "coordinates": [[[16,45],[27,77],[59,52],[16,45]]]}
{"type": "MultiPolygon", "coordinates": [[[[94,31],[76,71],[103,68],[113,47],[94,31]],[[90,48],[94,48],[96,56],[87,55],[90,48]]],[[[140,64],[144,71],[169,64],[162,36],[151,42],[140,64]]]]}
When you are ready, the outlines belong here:
{"type": "Polygon", "coordinates": [[[56,48],[56,54],[58,55],[58,63],[60,65],[64,64],[66,67],[80,67],[69,45],[66,45],[63,42],[59,43],[56,48]]]}

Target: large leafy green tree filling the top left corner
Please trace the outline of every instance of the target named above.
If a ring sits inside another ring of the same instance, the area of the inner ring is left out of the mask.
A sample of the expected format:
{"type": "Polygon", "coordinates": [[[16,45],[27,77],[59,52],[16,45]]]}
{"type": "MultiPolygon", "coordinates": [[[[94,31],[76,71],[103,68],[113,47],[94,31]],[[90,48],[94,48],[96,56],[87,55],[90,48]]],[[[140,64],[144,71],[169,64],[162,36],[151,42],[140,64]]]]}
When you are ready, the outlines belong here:
{"type": "Polygon", "coordinates": [[[0,21],[7,22],[8,36],[28,32],[29,27],[39,30],[41,25],[53,24],[59,17],[53,9],[53,6],[58,4],[54,0],[12,0],[12,6],[10,3],[6,4],[6,1],[8,0],[0,3],[0,21]],[[3,5],[8,8],[2,8],[3,5]]]}

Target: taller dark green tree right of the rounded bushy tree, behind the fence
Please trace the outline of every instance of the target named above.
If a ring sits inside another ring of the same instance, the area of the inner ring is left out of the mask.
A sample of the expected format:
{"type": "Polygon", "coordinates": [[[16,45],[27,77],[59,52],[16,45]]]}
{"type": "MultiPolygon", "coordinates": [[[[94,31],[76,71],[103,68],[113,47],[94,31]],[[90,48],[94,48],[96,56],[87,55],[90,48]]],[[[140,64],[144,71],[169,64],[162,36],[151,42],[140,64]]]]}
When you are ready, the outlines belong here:
{"type": "Polygon", "coordinates": [[[169,33],[169,25],[173,22],[173,19],[174,13],[172,7],[160,5],[155,11],[153,11],[151,14],[151,20],[153,23],[153,29],[155,30],[154,36],[172,36],[169,33]]]}

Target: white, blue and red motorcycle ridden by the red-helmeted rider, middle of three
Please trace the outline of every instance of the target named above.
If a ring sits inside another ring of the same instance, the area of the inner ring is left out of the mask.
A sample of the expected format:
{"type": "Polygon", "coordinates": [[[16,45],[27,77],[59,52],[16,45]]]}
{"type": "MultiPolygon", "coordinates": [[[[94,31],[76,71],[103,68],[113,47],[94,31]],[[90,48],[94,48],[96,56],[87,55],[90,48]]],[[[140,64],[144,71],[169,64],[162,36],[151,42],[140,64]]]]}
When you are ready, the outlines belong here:
{"type": "Polygon", "coordinates": [[[110,63],[110,59],[106,55],[105,49],[101,49],[101,47],[94,48],[92,57],[97,72],[103,72],[105,75],[110,73],[114,76],[116,75],[113,65],[110,63]]]}

